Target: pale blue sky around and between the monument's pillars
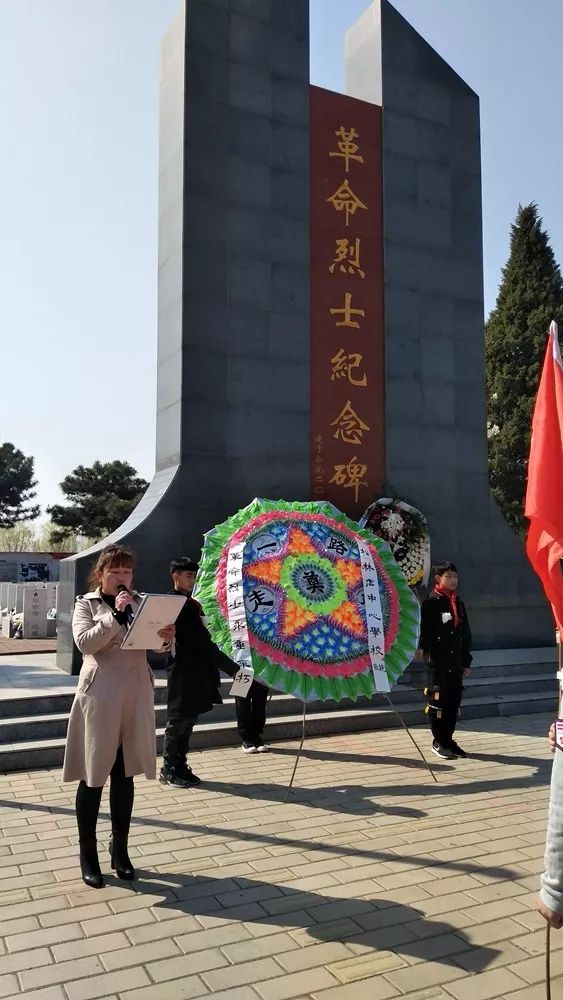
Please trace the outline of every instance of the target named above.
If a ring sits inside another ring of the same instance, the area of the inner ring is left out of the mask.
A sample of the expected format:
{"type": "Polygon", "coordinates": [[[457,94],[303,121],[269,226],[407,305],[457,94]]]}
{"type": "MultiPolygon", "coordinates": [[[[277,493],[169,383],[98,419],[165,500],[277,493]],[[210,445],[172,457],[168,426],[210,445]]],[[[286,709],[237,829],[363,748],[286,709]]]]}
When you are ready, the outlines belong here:
{"type": "MultiPolygon", "coordinates": [[[[283,3],[283,0],[279,0],[283,3]]],[[[519,202],[563,261],[560,0],[394,0],[479,93],[485,294],[519,202]]],[[[311,0],[311,79],[344,89],[365,0],[311,0]]],[[[177,0],[0,2],[0,440],[39,499],[79,463],[154,468],[158,59],[177,0]]]]}

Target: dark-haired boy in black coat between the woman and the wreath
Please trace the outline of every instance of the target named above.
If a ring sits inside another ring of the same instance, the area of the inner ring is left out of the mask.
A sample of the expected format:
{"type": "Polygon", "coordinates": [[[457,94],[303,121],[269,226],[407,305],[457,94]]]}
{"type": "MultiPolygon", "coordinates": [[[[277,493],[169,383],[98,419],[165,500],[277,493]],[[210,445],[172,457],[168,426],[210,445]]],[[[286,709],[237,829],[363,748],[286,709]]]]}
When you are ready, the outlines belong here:
{"type": "Polygon", "coordinates": [[[170,565],[172,593],[183,594],[187,601],[176,619],[175,651],[167,666],[168,712],[160,781],[181,788],[201,783],[186,758],[198,716],[222,704],[219,671],[229,677],[237,671],[212,641],[202,607],[192,597],[197,571],[198,564],[187,556],[174,559],[170,565]]]}

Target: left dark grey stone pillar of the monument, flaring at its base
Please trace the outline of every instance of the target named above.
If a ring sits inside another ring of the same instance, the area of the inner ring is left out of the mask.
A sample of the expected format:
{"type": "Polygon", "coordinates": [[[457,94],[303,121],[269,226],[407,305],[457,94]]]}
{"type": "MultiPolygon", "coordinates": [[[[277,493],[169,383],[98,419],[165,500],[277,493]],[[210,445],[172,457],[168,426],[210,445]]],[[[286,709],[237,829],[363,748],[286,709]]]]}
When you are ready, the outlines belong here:
{"type": "MultiPolygon", "coordinates": [[[[147,590],[255,496],[309,496],[308,0],[189,0],[160,112],[157,472],[104,540],[147,590]]],[[[61,565],[69,671],[95,555],[61,565]]]]}

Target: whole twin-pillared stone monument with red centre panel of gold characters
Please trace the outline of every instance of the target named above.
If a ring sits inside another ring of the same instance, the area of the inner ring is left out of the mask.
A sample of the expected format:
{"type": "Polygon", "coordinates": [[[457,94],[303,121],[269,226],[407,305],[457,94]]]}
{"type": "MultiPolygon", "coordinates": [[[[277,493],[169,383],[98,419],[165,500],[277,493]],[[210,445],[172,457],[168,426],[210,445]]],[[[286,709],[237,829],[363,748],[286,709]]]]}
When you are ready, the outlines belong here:
{"type": "MultiPolygon", "coordinates": [[[[254,497],[352,516],[386,483],[463,574],[475,644],[552,626],[488,487],[479,102],[376,0],[347,95],[308,0],[189,0],[163,43],[156,473],[111,539],[145,589],[254,497]]],[[[58,662],[92,552],[61,567],[58,662]]]]}

